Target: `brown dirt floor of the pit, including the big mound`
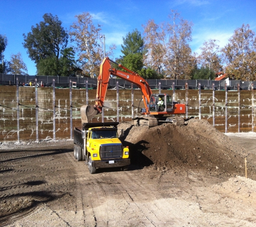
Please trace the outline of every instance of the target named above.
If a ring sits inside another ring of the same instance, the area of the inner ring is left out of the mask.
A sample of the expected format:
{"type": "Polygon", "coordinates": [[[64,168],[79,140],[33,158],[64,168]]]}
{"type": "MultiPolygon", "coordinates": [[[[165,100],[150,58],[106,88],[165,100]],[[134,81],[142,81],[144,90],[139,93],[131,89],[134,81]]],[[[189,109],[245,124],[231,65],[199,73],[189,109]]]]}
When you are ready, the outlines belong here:
{"type": "Polygon", "coordinates": [[[256,225],[256,133],[196,119],[119,128],[127,172],[89,174],[72,140],[0,143],[0,226],[256,225]]]}

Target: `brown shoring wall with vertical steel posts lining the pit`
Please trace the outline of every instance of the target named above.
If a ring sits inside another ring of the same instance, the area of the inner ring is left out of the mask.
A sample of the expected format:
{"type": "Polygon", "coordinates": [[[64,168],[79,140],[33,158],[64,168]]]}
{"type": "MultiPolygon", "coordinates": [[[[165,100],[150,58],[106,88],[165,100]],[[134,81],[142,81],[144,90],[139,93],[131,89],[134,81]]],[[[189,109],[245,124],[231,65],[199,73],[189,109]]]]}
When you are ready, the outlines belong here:
{"type": "MultiPolygon", "coordinates": [[[[253,86],[253,84],[252,84],[253,86]]],[[[119,86],[117,85],[117,88],[119,86]]],[[[214,84],[213,84],[214,88],[214,84]]],[[[253,88],[253,87],[252,87],[253,88]]],[[[159,93],[160,89],[153,90],[159,93]]],[[[221,132],[254,131],[254,90],[161,90],[186,103],[184,118],[206,119],[221,132]]],[[[128,121],[143,108],[140,89],[109,89],[103,120],[128,121]],[[118,102],[117,102],[118,94],[118,102]],[[133,103],[133,107],[132,107],[133,103]],[[119,105],[117,111],[117,104],[119,105]],[[118,117],[118,119],[117,119],[118,117]]],[[[71,139],[81,126],[80,107],[94,104],[96,90],[0,86],[0,141],[71,139]]],[[[97,115],[94,122],[102,122],[97,115]]]]}

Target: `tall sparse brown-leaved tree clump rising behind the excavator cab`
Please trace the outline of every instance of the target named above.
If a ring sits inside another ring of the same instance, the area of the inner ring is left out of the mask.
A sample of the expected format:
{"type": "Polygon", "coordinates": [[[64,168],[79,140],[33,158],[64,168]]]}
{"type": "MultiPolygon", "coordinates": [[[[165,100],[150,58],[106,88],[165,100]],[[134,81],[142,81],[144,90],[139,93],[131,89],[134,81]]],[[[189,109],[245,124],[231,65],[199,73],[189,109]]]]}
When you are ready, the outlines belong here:
{"type": "Polygon", "coordinates": [[[189,41],[192,23],[171,10],[170,23],[155,24],[149,20],[144,28],[144,40],[148,53],[144,61],[171,79],[189,79],[195,59],[189,41]]]}

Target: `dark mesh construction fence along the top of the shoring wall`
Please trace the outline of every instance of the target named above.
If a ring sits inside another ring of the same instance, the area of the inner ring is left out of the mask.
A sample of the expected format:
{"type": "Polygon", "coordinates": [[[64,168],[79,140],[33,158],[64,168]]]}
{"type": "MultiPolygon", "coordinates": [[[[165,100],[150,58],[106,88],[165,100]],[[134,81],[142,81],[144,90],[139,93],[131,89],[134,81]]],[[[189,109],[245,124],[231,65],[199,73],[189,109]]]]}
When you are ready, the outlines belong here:
{"type": "MultiPolygon", "coordinates": [[[[18,78],[19,86],[30,86],[34,81],[37,80],[38,86],[40,87],[52,87],[52,81],[54,79],[56,88],[68,88],[70,81],[72,81],[73,86],[76,88],[85,88],[88,84],[88,89],[97,88],[97,79],[89,77],[69,77],[69,76],[29,76],[29,75],[10,75],[10,74],[0,74],[0,85],[16,85],[16,80],[18,78]]],[[[131,83],[123,79],[110,79],[109,89],[116,87],[116,82],[119,82],[120,88],[131,88],[131,83]]],[[[240,90],[250,90],[256,89],[255,81],[240,81],[240,80],[229,80],[229,81],[214,81],[214,80],[160,80],[160,79],[148,79],[151,89],[158,89],[159,84],[161,84],[161,89],[172,89],[173,84],[175,84],[175,89],[185,89],[185,84],[188,84],[188,89],[198,89],[198,84],[200,84],[201,89],[212,89],[212,84],[215,84],[215,90],[224,90],[227,86],[227,90],[237,90],[238,84],[240,90]],[[255,84],[252,87],[252,84],[255,84]]],[[[134,86],[136,89],[137,87],[134,86]]]]}

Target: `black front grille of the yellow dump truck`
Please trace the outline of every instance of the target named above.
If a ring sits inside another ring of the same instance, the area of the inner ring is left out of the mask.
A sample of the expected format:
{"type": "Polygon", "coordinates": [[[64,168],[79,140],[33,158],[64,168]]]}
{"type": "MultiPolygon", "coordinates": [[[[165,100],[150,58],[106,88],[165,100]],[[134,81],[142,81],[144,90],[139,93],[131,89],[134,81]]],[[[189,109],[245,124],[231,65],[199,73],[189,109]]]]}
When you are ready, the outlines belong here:
{"type": "Polygon", "coordinates": [[[122,157],[122,145],[101,145],[100,146],[100,159],[120,159],[122,157]]]}

